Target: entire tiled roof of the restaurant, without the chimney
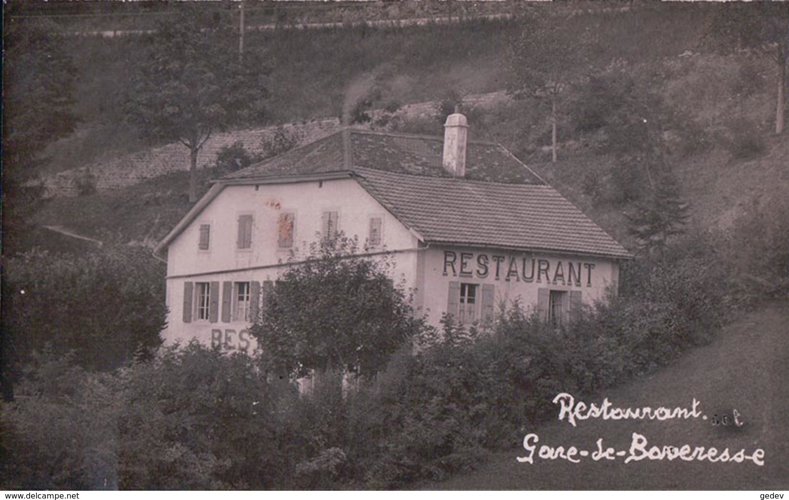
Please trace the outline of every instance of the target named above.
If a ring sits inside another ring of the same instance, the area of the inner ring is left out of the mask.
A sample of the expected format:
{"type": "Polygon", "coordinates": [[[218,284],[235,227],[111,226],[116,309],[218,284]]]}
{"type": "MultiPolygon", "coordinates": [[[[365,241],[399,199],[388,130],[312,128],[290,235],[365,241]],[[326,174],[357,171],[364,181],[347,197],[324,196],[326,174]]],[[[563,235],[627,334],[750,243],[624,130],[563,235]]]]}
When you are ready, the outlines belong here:
{"type": "MultiPolygon", "coordinates": [[[[426,242],[631,257],[502,146],[469,141],[462,179],[444,170],[442,155],[440,137],[346,129],[226,175],[215,187],[352,175],[426,242]]],[[[157,248],[177,233],[178,227],[157,248]]]]}

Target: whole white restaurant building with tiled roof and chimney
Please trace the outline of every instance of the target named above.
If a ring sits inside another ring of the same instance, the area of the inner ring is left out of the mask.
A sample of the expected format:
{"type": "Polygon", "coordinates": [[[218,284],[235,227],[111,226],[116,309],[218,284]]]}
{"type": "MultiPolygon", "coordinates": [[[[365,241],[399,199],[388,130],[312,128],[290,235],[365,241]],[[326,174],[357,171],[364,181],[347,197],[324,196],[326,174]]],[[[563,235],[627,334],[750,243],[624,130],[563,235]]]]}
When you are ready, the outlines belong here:
{"type": "MultiPolygon", "coordinates": [[[[434,325],[500,300],[561,321],[616,288],[630,254],[500,145],[346,129],[215,181],[155,249],[167,261],[166,342],[253,348],[249,318],[294,250],[343,231],[394,261],[434,325]]],[[[298,253],[296,253],[298,254],[298,253]]]]}

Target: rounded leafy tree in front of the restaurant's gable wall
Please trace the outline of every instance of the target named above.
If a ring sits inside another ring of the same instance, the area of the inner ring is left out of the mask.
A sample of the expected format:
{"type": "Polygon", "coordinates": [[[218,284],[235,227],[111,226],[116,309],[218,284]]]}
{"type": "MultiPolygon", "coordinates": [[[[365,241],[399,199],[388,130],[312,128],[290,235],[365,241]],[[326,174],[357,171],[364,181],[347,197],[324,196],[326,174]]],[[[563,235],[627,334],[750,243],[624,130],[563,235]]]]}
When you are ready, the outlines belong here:
{"type": "Polygon", "coordinates": [[[275,284],[251,329],[275,370],[376,374],[417,331],[421,320],[387,276],[391,263],[357,251],[342,235],[323,239],[275,284]]]}

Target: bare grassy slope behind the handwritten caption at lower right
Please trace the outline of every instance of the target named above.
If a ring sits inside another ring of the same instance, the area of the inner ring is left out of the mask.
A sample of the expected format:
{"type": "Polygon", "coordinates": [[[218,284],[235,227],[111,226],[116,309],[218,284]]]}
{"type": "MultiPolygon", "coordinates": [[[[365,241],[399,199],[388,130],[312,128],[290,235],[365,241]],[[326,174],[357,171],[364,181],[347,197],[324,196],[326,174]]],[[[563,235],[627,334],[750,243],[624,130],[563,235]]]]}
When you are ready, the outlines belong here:
{"type": "MultiPolygon", "coordinates": [[[[578,427],[557,419],[526,433],[539,435],[540,445],[576,446],[594,452],[596,441],[615,450],[630,450],[633,433],[649,445],[714,446],[734,455],[765,450],[764,465],[709,461],[593,461],[580,463],[540,460],[518,463],[525,449],[496,454],[476,472],[447,482],[423,485],[428,489],[690,489],[786,490],[789,488],[789,304],[773,303],[727,326],[712,344],[683,355],[671,367],[628,385],[585,398],[600,405],[608,397],[613,407],[691,408],[694,398],[708,419],[577,421],[578,427]],[[732,415],[742,427],[713,426],[712,415],[732,415]]],[[[559,415],[559,406],[557,405],[559,415]]],[[[522,438],[522,437],[521,437],[522,438]]]]}

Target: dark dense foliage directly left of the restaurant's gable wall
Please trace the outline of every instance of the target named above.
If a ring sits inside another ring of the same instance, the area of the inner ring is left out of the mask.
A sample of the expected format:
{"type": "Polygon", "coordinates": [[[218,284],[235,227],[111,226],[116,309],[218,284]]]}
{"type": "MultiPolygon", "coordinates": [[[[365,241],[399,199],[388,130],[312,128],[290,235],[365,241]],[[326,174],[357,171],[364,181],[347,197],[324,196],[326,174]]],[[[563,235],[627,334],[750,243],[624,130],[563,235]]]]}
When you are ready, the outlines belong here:
{"type": "Polygon", "coordinates": [[[4,362],[25,363],[50,345],[55,355],[73,351],[87,370],[111,370],[161,342],[164,266],[147,249],[31,251],[7,260],[3,273],[4,362]]]}

